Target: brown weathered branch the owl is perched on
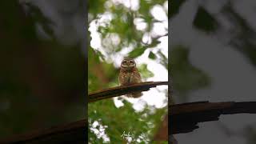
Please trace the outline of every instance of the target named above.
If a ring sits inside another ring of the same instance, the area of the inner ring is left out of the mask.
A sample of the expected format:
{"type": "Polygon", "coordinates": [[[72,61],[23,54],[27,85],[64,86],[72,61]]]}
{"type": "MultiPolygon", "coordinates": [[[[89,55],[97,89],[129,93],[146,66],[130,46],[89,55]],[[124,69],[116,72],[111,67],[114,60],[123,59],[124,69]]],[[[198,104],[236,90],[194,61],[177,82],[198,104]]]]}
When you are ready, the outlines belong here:
{"type": "Polygon", "coordinates": [[[141,82],[130,86],[116,86],[89,94],[89,102],[113,98],[120,95],[129,94],[130,92],[147,91],[152,87],[160,85],[168,85],[168,82],[141,82]]]}

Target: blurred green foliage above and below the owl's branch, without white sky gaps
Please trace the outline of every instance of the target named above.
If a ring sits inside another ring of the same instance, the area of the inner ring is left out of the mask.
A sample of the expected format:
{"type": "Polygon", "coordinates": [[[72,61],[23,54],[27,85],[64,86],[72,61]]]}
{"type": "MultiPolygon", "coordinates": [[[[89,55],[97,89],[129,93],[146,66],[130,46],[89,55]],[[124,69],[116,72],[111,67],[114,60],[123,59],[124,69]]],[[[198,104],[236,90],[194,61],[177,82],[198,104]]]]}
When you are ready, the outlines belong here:
{"type": "MultiPolygon", "coordinates": [[[[125,6],[121,1],[90,0],[88,2],[89,23],[97,26],[96,31],[89,30],[91,40],[93,41],[92,34],[98,33],[100,42],[97,43],[101,44],[98,47],[88,46],[89,92],[118,86],[119,68],[114,63],[114,59],[120,56],[129,56],[136,61],[136,58],[148,54],[147,58],[160,63],[167,69],[166,55],[157,48],[160,44],[159,38],[166,34],[150,36],[151,40],[148,42],[142,40],[146,34],[150,34],[154,23],[159,22],[150,14],[150,10],[154,6],[163,6],[165,2],[167,1],[142,0],[139,1],[138,9],[125,6]],[[138,30],[136,22],[142,22],[145,28],[138,30]],[[124,50],[126,52],[123,52],[124,50]]],[[[144,80],[154,77],[146,63],[137,66],[144,80]]],[[[142,111],[138,112],[130,102],[122,98],[120,100],[124,106],[115,106],[113,99],[89,104],[89,142],[102,143],[106,138],[110,138],[110,143],[129,143],[122,135],[130,132],[134,134],[135,139],[140,137],[142,143],[150,143],[159,124],[162,123],[163,115],[167,113],[166,107],[157,109],[146,105],[142,111]]]]}

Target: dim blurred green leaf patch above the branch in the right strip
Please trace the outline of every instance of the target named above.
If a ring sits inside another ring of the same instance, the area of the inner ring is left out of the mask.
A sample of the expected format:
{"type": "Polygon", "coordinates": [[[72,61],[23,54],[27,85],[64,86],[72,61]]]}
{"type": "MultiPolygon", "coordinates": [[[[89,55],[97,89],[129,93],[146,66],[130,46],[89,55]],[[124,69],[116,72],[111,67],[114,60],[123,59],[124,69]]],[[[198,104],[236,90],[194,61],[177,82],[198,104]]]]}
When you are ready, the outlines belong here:
{"type": "Polygon", "coordinates": [[[173,76],[174,90],[178,90],[180,94],[210,86],[210,77],[189,62],[189,52],[184,46],[175,46],[170,52],[170,73],[173,76]]]}

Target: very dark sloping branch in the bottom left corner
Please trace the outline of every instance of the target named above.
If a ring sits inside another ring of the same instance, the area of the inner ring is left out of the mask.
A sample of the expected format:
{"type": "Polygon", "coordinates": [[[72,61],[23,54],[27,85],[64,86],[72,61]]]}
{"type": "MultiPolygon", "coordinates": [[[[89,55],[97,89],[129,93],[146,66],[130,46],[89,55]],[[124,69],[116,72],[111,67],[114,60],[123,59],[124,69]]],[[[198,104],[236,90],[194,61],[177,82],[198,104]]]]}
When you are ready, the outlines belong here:
{"type": "Polygon", "coordinates": [[[37,130],[27,134],[14,135],[0,140],[0,143],[81,143],[86,142],[87,121],[71,122],[63,126],[54,126],[46,130],[37,130]]]}

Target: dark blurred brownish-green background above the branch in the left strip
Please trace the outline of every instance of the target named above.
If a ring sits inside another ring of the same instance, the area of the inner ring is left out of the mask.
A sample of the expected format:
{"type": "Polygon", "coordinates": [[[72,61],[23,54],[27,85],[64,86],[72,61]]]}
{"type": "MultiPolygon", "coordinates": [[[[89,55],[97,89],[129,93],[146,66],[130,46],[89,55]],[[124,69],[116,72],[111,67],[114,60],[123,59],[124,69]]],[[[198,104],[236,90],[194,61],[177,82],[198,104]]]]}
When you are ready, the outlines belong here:
{"type": "Polygon", "coordinates": [[[86,118],[85,4],[0,2],[0,138],[86,118]]]}

